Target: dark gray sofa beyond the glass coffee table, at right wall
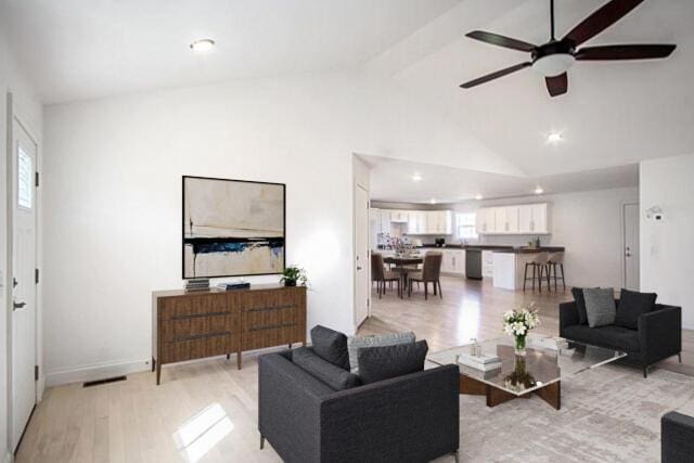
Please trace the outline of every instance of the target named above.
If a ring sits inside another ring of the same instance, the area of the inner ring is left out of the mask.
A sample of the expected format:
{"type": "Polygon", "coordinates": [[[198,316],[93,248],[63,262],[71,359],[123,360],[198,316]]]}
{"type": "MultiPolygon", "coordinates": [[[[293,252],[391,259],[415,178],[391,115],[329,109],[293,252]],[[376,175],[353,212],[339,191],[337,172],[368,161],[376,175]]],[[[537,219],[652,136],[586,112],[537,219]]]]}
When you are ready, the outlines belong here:
{"type": "MultiPolygon", "coordinates": [[[[616,304],[619,310],[619,299],[616,304]]],[[[627,353],[622,362],[640,366],[646,377],[648,366],[682,351],[682,308],[656,304],[653,311],[639,317],[638,330],[629,330],[617,325],[590,327],[580,324],[576,301],[564,303],[560,305],[560,336],[622,350],[627,353]]]]}

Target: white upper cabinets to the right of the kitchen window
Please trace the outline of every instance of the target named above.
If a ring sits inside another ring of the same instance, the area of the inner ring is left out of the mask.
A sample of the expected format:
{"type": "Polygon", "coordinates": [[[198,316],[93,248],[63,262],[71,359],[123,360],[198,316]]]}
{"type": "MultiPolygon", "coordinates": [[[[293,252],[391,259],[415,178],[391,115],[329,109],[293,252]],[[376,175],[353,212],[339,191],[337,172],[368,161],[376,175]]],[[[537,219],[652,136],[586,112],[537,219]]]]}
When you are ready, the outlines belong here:
{"type": "Polygon", "coordinates": [[[549,234],[549,205],[483,207],[477,210],[479,234],[549,234]]]}

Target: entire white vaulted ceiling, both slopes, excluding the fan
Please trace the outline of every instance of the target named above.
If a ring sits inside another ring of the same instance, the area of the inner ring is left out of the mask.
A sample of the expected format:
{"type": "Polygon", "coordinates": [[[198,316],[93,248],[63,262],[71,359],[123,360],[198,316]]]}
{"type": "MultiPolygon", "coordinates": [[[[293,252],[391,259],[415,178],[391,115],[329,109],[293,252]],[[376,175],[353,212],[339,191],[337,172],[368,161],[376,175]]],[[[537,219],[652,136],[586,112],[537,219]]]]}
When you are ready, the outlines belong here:
{"type": "MultiPolygon", "coordinates": [[[[556,0],[558,35],[606,1],[556,0]]],[[[551,99],[531,68],[458,87],[528,57],[465,33],[542,43],[549,0],[0,0],[0,27],[44,102],[360,68],[530,178],[694,152],[692,24],[694,1],[645,0],[587,44],[671,42],[674,53],[577,63],[568,93],[551,99]],[[188,50],[201,37],[217,40],[214,53],[188,50]],[[552,131],[564,141],[548,144],[552,131]]]]}

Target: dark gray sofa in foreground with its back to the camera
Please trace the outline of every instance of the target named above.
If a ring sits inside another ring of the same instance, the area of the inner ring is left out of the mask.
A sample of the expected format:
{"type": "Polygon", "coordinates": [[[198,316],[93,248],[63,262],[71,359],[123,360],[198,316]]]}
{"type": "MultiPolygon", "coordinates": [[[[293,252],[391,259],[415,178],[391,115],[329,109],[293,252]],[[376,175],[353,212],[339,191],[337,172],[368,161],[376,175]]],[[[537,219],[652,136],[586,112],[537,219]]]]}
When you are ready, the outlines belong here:
{"type": "Polygon", "coordinates": [[[439,366],[335,391],[292,362],[259,358],[258,428],[286,462],[426,462],[458,455],[459,370],[439,366]]]}

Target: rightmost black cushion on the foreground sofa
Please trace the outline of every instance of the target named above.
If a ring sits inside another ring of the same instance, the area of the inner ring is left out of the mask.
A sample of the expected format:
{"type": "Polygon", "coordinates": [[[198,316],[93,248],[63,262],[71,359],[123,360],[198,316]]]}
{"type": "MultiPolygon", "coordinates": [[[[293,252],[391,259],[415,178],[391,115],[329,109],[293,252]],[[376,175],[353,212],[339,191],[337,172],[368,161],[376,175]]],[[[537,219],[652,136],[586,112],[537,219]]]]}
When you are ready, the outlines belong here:
{"type": "Polygon", "coordinates": [[[424,370],[426,340],[395,346],[362,347],[357,352],[362,384],[375,383],[424,370]]]}

